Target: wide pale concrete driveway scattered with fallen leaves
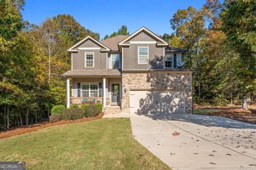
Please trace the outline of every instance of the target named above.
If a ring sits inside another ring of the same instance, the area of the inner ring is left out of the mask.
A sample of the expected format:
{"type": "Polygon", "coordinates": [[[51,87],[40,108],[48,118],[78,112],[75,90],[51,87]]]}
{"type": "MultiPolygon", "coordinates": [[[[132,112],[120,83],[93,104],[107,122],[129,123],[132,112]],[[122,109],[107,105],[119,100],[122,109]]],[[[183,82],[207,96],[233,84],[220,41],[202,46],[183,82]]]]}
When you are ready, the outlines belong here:
{"type": "Polygon", "coordinates": [[[256,169],[256,125],[204,115],[130,117],[135,139],[173,169],[256,169]]]}

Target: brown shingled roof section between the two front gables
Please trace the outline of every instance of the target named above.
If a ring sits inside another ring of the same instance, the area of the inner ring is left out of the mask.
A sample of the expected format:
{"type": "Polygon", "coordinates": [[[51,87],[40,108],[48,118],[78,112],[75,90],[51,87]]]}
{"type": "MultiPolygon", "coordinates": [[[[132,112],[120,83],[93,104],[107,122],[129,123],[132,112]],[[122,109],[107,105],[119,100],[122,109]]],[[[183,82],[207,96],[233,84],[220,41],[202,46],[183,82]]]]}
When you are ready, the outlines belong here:
{"type": "Polygon", "coordinates": [[[118,52],[118,43],[120,43],[125,38],[129,37],[130,35],[119,35],[116,37],[111,37],[105,40],[100,41],[103,45],[109,47],[112,51],[118,52]]]}

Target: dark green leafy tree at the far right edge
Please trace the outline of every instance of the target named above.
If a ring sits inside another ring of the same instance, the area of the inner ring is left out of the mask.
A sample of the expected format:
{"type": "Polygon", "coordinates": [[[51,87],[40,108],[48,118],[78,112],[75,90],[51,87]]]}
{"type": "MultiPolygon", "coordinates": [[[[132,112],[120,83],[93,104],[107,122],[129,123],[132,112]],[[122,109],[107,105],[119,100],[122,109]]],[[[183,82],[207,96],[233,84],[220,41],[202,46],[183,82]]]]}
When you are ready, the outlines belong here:
{"type": "Polygon", "coordinates": [[[241,81],[242,108],[256,91],[256,2],[225,1],[221,12],[222,30],[231,47],[239,54],[237,78],[241,81]]]}

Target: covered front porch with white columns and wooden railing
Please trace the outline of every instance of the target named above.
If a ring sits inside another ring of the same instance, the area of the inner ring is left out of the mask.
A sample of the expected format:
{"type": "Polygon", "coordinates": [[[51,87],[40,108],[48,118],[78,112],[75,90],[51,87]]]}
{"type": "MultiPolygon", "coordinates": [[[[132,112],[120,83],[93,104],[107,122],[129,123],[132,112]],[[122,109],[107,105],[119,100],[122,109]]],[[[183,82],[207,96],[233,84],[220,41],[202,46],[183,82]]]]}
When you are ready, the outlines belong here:
{"type": "Polygon", "coordinates": [[[121,77],[84,77],[67,79],[67,108],[101,103],[103,107],[121,106],[121,77]],[[71,95],[70,94],[71,80],[71,95]],[[71,96],[71,97],[69,97],[71,96]]]}

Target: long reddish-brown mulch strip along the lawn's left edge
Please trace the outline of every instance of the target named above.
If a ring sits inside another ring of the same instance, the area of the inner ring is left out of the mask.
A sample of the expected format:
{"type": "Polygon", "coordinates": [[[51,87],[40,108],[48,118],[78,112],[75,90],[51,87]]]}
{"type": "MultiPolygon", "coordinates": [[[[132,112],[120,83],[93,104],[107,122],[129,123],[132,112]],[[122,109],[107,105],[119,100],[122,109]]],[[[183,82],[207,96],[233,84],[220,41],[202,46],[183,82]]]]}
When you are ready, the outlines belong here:
{"type": "Polygon", "coordinates": [[[104,115],[104,113],[100,113],[96,117],[83,117],[79,120],[75,121],[59,121],[55,123],[50,123],[50,122],[43,122],[43,123],[38,123],[38,124],[33,124],[33,125],[28,125],[28,126],[22,126],[19,128],[11,129],[11,130],[6,130],[0,132],[0,139],[2,138],[8,138],[13,135],[17,134],[23,134],[23,133],[28,133],[31,131],[36,131],[38,129],[43,129],[43,128],[48,128],[50,126],[55,126],[55,125],[61,125],[61,124],[69,124],[69,123],[79,123],[79,122],[87,122],[87,121],[92,121],[92,120],[97,120],[101,118],[104,115]]]}

